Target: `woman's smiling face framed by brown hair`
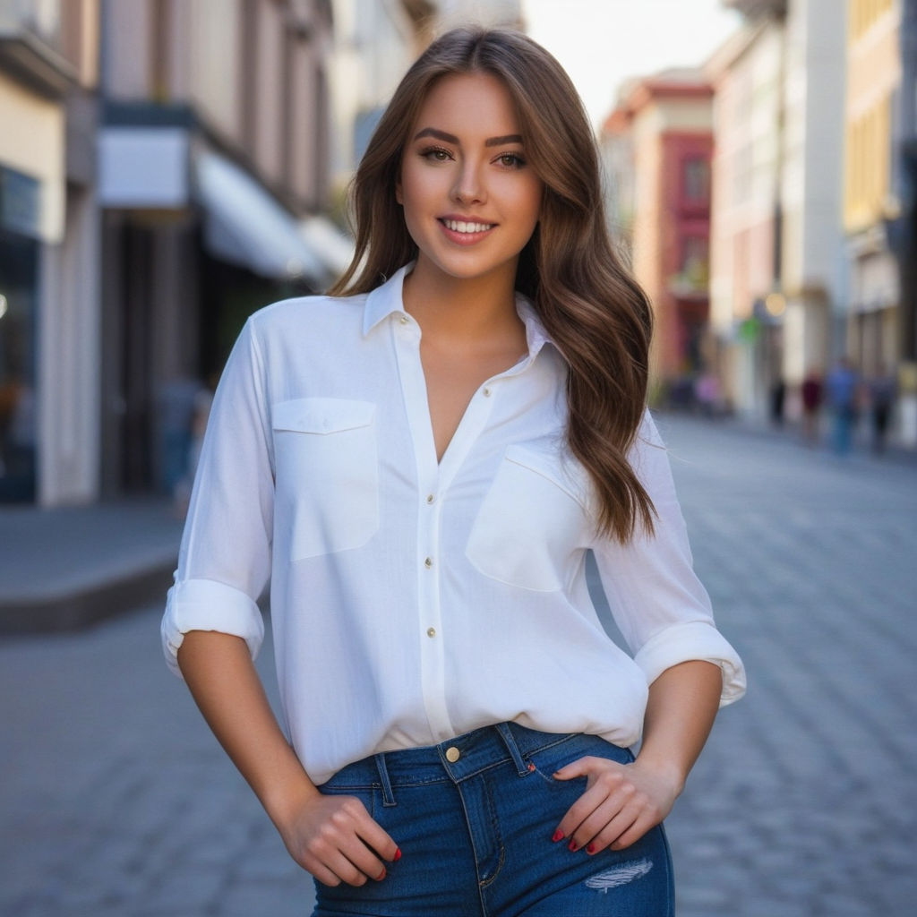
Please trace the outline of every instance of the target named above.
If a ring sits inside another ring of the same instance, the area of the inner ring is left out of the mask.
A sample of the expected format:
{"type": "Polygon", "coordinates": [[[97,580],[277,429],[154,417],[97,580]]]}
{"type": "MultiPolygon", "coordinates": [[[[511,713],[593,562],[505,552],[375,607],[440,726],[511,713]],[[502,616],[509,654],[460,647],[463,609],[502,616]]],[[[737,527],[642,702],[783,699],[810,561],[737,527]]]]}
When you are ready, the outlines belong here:
{"type": "Polygon", "coordinates": [[[396,189],[418,249],[414,273],[512,284],[541,193],[503,83],[489,73],[434,83],[408,135],[396,189]]]}

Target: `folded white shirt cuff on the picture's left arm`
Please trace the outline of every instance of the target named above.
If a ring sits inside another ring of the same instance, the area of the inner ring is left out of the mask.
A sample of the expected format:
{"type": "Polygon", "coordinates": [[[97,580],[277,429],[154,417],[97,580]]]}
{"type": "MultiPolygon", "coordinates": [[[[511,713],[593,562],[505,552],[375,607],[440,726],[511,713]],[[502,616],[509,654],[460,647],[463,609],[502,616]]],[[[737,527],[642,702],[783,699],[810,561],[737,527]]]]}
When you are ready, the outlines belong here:
{"type": "Polygon", "coordinates": [[[182,678],[178,650],[189,631],[219,631],[239,636],[254,659],[264,640],[258,603],[234,586],[216,580],[183,580],[169,590],[160,632],[169,668],[182,678]]]}

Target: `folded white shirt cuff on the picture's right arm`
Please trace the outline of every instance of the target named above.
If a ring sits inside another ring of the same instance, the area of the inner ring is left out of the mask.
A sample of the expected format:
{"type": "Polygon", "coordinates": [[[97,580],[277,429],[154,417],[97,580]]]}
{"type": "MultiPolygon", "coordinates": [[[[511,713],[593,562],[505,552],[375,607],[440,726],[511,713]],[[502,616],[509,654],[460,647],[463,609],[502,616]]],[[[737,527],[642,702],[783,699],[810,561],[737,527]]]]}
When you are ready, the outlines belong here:
{"type": "Polygon", "coordinates": [[[712,662],[723,672],[720,706],[737,701],[746,692],[746,672],[742,660],[712,624],[692,621],[673,624],[651,637],[634,657],[652,684],[667,668],[700,659],[712,662]]]}

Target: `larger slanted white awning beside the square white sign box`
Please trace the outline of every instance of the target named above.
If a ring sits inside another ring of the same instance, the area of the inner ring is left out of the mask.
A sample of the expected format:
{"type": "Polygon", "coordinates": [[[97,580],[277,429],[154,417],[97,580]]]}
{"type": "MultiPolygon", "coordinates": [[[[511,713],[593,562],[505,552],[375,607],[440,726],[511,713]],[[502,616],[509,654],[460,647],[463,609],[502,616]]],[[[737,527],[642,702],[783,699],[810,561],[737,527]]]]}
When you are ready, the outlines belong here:
{"type": "Polygon", "coordinates": [[[326,268],[293,215],[246,171],[216,153],[198,153],[194,194],[204,207],[204,245],[215,257],[271,280],[324,285],[326,268]]]}

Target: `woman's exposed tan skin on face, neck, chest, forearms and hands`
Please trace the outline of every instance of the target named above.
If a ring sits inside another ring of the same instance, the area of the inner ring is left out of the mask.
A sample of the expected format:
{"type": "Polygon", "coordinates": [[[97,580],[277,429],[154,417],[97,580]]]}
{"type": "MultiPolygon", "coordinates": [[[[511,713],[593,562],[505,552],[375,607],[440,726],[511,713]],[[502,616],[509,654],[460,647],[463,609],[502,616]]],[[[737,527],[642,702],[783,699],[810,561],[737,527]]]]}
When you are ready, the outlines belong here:
{"type": "MultiPolygon", "coordinates": [[[[409,145],[396,192],[419,249],[403,300],[421,327],[437,458],[446,452],[474,393],[526,352],[513,288],[518,252],[536,218],[533,189],[540,194],[540,182],[511,165],[521,144],[497,149],[489,144],[520,131],[503,87],[497,83],[495,90],[492,78],[479,77],[446,78],[438,86],[452,81],[447,92],[428,96],[436,127],[460,142],[432,156],[424,146],[428,138],[409,145]],[[412,171],[414,166],[418,169],[412,171]],[[447,197],[441,208],[437,188],[447,197]],[[460,215],[466,210],[496,228],[481,236],[492,244],[455,243],[443,233],[440,211],[460,215]],[[507,242],[510,233],[515,237],[507,242]]],[[[428,115],[422,110],[414,127],[422,127],[428,115]]],[[[185,635],[178,661],[204,718],[293,859],[326,885],[383,880],[386,864],[401,856],[395,840],[356,798],[323,796],[315,788],[271,712],[246,643],[232,635],[193,631],[185,635]]],[[[707,662],[685,662],[663,672],[649,688],[644,741],[634,764],[583,757],[555,775],[585,778],[586,787],[558,823],[554,839],[563,838],[577,851],[585,848],[588,855],[631,845],[661,822],[701,753],[721,690],[720,670],[707,662]]],[[[550,842],[546,837],[546,846],[550,842]]]]}

